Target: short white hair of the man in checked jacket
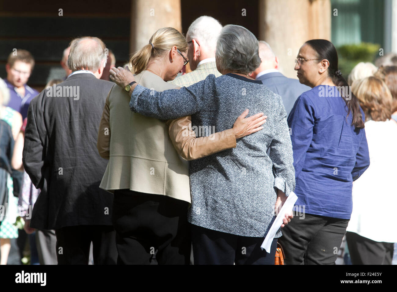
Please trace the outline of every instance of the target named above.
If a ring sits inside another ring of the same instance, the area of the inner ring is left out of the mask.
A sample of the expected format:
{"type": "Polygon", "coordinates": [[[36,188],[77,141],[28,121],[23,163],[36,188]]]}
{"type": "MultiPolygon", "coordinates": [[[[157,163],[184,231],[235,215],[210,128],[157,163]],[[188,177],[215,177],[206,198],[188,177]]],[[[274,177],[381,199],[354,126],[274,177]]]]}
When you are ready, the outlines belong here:
{"type": "Polygon", "coordinates": [[[216,41],[221,33],[222,25],[211,16],[200,16],[191,23],[187,30],[188,39],[197,39],[200,46],[213,49],[215,52],[216,41]]]}

